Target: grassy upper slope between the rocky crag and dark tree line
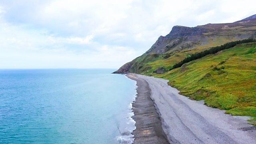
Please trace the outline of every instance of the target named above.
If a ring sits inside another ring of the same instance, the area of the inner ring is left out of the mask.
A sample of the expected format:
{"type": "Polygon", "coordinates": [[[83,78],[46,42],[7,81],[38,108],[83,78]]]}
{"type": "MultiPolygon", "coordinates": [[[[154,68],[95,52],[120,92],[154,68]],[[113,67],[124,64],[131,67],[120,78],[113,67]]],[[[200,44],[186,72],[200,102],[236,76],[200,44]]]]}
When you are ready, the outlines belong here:
{"type": "Polygon", "coordinates": [[[130,72],[151,76],[157,68],[164,67],[166,70],[169,70],[174,64],[190,56],[190,54],[201,52],[214,46],[220,46],[227,42],[245,39],[248,36],[256,36],[256,25],[254,21],[244,24],[210,24],[201,27],[213,28],[217,31],[204,33],[201,36],[188,36],[184,41],[171,48],[165,54],[142,55],[133,60],[135,64],[133,64],[130,72]],[[185,46],[180,49],[184,43],[189,42],[196,43],[192,47],[186,48],[185,46]],[[170,57],[166,58],[166,55],[170,55],[170,57]]]}

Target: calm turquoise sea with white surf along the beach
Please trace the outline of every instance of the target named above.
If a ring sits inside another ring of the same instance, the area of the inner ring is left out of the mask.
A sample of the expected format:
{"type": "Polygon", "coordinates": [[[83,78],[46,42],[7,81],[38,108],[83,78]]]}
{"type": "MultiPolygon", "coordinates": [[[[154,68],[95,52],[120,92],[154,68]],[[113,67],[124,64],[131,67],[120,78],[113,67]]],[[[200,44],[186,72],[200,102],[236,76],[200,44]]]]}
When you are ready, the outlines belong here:
{"type": "Polygon", "coordinates": [[[0,143],[129,143],[136,82],[113,71],[0,70],[0,143]]]}

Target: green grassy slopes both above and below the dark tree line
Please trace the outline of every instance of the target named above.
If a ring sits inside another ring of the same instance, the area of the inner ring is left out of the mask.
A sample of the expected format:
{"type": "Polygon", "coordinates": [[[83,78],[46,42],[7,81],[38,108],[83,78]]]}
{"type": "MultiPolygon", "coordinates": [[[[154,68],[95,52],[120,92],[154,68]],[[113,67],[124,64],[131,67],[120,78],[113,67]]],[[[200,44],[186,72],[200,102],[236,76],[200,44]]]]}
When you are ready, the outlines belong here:
{"type": "Polygon", "coordinates": [[[222,28],[223,31],[217,34],[205,33],[198,38],[202,43],[189,49],[173,48],[164,54],[142,55],[133,60],[130,72],[168,79],[181,94],[205,100],[207,105],[227,110],[229,114],[252,116],[256,125],[256,43],[242,44],[218,55],[194,60],[165,74],[153,73],[160,67],[169,70],[190,54],[244,39],[237,37],[238,34],[253,35],[255,24],[248,26],[222,28]]]}

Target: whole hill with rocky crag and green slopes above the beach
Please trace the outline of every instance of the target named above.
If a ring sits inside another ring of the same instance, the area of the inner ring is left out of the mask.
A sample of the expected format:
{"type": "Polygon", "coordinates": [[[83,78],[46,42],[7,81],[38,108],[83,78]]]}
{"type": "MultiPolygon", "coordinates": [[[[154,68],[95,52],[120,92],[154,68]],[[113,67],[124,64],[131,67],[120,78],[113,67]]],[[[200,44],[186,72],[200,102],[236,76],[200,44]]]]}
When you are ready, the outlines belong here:
{"type": "Polygon", "coordinates": [[[228,24],[174,26],[114,73],[168,79],[181,94],[228,114],[252,116],[256,125],[256,42],[238,44],[248,38],[256,38],[256,15],[228,24]]]}

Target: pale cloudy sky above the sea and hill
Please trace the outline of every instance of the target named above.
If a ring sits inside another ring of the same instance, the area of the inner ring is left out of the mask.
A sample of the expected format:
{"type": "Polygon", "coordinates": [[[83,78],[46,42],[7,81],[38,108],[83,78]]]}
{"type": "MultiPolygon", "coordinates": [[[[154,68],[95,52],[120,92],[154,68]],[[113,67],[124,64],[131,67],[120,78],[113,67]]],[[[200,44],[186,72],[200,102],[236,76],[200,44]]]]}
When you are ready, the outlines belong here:
{"type": "Polygon", "coordinates": [[[256,0],[0,0],[0,68],[119,68],[173,26],[235,22],[256,0]]]}

